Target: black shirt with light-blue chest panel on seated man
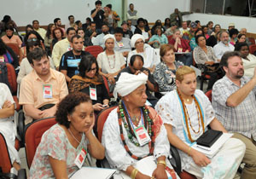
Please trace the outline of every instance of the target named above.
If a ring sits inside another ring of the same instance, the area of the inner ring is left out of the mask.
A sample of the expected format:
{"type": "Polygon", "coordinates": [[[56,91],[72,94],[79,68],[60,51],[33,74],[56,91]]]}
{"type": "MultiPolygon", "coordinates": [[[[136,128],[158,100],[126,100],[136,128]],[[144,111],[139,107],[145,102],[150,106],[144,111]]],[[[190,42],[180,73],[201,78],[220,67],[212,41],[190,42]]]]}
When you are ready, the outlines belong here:
{"type": "Polygon", "coordinates": [[[63,54],[60,62],[60,71],[67,70],[67,76],[69,78],[79,74],[79,63],[83,55],[90,55],[90,53],[82,51],[81,55],[73,55],[73,50],[70,50],[63,54]]]}

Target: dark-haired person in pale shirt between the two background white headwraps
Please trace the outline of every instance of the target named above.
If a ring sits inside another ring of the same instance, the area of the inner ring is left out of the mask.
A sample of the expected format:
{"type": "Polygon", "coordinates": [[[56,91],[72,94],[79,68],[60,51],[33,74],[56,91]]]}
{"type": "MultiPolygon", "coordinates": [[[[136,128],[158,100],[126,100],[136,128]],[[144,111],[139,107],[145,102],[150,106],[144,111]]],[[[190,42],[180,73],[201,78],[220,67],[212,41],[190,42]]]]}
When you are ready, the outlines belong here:
{"type": "Polygon", "coordinates": [[[127,57],[131,51],[130,38],[123,38],[123,30],[120,27],[116,27],[113,32],[115,38],[114,50],[122,53],[123,56],[127,57]]]}

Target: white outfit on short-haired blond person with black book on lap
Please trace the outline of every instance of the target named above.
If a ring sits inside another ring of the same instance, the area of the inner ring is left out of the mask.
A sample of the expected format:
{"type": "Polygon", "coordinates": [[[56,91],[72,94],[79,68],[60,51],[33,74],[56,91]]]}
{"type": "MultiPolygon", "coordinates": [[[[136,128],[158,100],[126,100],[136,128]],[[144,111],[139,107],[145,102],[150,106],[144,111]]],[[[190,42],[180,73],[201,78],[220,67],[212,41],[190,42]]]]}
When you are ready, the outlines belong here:
{"type": "MultiPolygon", "coordinates": [[[[195,90],[195,97],[201,107],[202,116],[204,119],[204,126],[207,130],[207,125],[215,118],[215,113],[207,96],[201,90],[195,90]]],[[[185,104],[191,125],[195,131],[199,130],[198,114],[195,107],[195,101],[191,104],[185,104]]],[[[163,96],[155,106],[155,110],[160,114],[165,124],[172,125],[172,132],[180,138],[187,145],[191,145],[189,137],[187,135],[186,125],[183,118],[183,110],[181,101],[177,95],[177,90],[173,90],[163,96]],[[171,101],[171,102],[170,102],[171,101]]],[[[185,112],[184,112],[185,113],[185,112]]],[[[193,140],[196,140],[202,135],[203,130],[198,134],[195,134],[189,126],[189,131],[193,140]]],[[[189,157],[187,153],[178,150],[182,161],[182,170],[186,170],[189,173],[201,178],[233,178],[236,175],[236,170],[241,163],[241,159],[244,155],[244,144],[237,139],[230,138],[219,152],[211,159],[211,164],[206,167],[199,167],[195,165],[194,160],[189,157]],[[233,148],[235,147],[235,148],[233,148]],[[239,147],[239,149],[237,149],[239,147]]]]}

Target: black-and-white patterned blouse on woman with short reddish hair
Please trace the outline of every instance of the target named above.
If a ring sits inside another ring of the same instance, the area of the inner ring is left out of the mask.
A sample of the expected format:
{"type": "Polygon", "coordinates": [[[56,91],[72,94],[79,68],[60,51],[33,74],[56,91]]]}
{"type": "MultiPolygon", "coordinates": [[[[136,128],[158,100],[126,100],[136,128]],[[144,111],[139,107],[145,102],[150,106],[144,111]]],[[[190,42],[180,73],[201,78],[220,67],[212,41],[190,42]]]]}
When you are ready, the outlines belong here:
{"type": "MultiPolygon", "coordinates": [[[[183,66],[183,62],[174,61],[176,68],[183,66]]],[[[154,69],[154,81],[158,84],[160,92],[176,90],[176,70],[169,69],[166,63],[161,61],[154,69]]]]}

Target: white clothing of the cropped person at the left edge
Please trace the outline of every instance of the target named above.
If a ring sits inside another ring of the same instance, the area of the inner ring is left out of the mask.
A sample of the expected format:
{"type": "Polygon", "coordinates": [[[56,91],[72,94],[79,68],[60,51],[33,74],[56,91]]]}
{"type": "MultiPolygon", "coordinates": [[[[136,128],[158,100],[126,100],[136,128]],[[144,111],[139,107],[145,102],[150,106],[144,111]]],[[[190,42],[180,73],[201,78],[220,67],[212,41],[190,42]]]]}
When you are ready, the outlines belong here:
{"type": "MultiPolygon", "coordinates": [[[[10,101],[15,104],[13,96],[10,93],[9,87],[6,84],[0,83],[0,109],[3,107],[5,101],[10,101]]],[[[15,161],[20,164],[19,153],[15,149],[15,123],[14,116],[9,118],[0,118],[0,132],[3,134],[8,149],[11,163],[15,161]]]]}

